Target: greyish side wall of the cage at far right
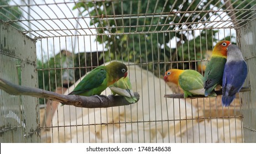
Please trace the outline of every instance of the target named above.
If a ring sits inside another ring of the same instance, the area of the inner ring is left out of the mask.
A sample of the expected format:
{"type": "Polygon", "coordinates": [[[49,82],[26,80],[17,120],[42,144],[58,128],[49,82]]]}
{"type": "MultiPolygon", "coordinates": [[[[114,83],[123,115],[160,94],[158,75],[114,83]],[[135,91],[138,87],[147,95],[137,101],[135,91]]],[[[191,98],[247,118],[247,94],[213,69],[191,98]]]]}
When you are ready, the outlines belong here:
{"type": "Polygon", "coordinates": [[[237,29],[239,47],[248,65],[247,80],[245,85],[250,86],[250,91],[242,94],[244,142],[256,142],[256,20],[237,29]]]}

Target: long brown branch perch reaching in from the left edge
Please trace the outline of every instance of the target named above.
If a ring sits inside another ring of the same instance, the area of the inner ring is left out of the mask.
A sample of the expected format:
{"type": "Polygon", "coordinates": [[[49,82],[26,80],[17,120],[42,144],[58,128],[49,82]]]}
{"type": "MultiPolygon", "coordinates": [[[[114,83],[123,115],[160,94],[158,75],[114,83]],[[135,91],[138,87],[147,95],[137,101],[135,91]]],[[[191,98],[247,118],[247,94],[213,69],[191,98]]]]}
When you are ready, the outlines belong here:
{"type": "MultiPolygon", "coordinates": [[[[126,98],[118,95],[100,95],[99,97],[102,99],[101,102],[101,100],[95,96],[86,97],[79,95],[61,95],[56,92],[15,85],[4,79],[0,79],[0,89],[6,91],[10,95],[27,95],[38,98],[48,98],[49,100],[61,102],[64,105],[73,105],[76,107],[106,108],[131,104],[126,100],[126,98]]],[[[138,92],[134,92],[134,96],[139,100],[138,92]]]]}

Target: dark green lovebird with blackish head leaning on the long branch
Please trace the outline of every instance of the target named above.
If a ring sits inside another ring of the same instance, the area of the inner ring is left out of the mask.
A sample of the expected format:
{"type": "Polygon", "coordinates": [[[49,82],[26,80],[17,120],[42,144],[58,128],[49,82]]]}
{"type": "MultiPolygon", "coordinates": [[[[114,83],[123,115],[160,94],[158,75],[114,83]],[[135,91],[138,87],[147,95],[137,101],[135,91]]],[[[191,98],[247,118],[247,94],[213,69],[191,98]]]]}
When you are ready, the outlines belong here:
{"type": "Polygon", "coordinates": [[[106,66],[98,66],[88,73],[69,95],[101,95],[108,86],[126,76],[127,67],[123,63],[111,62],[106,66]]]}

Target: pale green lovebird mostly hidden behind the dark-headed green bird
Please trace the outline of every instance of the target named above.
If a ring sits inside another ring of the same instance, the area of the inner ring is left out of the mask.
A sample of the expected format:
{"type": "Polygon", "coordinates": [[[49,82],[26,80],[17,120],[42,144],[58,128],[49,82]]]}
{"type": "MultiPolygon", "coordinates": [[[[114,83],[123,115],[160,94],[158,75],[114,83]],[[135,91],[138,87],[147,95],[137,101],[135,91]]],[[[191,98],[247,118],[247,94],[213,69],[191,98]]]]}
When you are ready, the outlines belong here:
{"type": "Polygon", "coordinates": [[[113,95],[121,95],[126,98],[129,103],[135,103],[137,98],[134,97],[132,85],[130,84],[130,79],[128,76],[126,78],[119,79],[113,85],[110,85],[109,88],[111,89],[113,95]]]}

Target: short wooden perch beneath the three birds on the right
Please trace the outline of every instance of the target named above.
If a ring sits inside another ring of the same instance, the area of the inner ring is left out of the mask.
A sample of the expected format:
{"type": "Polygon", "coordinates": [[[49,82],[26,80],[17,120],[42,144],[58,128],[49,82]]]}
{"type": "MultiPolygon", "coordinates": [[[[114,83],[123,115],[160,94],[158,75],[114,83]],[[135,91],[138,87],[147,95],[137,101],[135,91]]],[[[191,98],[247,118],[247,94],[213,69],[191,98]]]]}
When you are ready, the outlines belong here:
{"type": "MultiPolygon", "coordinates": [[[[241,90],[239,92],[245,92],[245,91],[250,91],[250,87],[242,87],[241,90]]],[[[222,89],[221,90],[216,90],[215,93],[218,95],[222,95],[222,89]]],[[[165,94],[164,97],[166,98],[184,98],[184,94],[165,94]]],[[[194,95],[192,97],[187,97],[187,98],[205,98],[208,96],[204,96],[204,95],[194,95]]]]}

